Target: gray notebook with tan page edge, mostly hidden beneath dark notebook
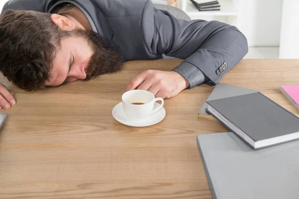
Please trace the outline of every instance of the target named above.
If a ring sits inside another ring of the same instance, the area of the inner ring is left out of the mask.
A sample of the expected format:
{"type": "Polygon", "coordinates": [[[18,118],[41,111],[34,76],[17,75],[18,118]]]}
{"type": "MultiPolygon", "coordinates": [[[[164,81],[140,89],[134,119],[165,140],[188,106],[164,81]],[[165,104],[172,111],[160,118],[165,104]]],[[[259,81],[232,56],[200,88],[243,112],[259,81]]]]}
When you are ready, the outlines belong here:
{"type": "MultiPolygon", "coordinates": [[[[211,92],[211,94],[209,95],[206,101],[216,100],[216,99],[221,99],[226,97],[239,96],[239,95],[244,95],[249,93],[256,93],[256,92],[258,91],[251,90],[248,88],[242,88],[239,86],[233,86],[229,84],[217,83],[217,85],[215,86],[215,88],[213,89],[213,91],[211,92]]],[[[196,117],[217,121],[216,118],[214,118],[211,114],[209,114],[206,111],[206,108],[208,108],[208,104],[205,102],[200,108],[200,110],[198,111],[196,117]]]]}

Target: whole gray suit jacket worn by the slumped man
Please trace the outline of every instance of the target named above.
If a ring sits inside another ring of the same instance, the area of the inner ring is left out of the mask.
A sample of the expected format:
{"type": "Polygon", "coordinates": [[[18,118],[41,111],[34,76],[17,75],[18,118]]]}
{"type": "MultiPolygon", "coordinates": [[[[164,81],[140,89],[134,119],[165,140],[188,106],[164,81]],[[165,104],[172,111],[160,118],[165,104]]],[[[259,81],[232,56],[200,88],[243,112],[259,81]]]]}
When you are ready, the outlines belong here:
{"type": "Polygon", "coordinates": [[[71,2],[86,14],[94,31],[120,49],[124,60],[184,59],[173,71],[190,83],[212,84],[248,52],[246,37],[234,26],[219,21],[177,19],[154,8],[151,0],[9,0],[5,9],[55,13],[57,4],[71,2]]]}

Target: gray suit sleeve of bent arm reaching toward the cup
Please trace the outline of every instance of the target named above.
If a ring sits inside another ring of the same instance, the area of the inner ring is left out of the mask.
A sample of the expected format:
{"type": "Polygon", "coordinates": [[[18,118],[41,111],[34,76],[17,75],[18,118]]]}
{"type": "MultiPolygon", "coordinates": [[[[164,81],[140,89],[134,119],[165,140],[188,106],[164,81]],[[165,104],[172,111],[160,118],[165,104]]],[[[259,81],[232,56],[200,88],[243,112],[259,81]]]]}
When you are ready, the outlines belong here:
{"type": "Polygon", "coordinates": [[[247,39],[235,26],[219,21],[182,20],[169,12],[144,8],[142,28],[152,54],[184,59],[173,71],[190,83],[203,83],[202,74],[215,85],[248,52],[247,39]]]}

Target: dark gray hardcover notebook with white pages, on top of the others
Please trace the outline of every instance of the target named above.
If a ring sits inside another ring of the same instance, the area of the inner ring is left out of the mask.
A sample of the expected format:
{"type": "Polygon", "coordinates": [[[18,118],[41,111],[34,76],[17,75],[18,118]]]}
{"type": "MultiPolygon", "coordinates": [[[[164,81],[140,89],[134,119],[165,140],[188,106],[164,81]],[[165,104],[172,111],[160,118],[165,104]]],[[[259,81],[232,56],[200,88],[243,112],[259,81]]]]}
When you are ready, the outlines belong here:
{"type": "Polygon", "coordinates": [[[299,139],[299,118],[262,93],[207,103],[208,112],[254,149],[299,139]]]}

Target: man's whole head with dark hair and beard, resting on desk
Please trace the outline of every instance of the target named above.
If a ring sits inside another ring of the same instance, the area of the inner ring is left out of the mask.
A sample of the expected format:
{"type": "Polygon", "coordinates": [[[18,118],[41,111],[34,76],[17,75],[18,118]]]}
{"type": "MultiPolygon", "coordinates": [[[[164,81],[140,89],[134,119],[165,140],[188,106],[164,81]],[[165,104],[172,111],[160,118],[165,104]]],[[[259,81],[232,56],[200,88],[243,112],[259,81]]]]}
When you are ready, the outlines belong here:
{"type": "Polygon", "coordinates": [[[123,60],[99,34],[58,14],[5,10],[0,16],[0,71],[31,91],[119,71],[123,60]]]}

